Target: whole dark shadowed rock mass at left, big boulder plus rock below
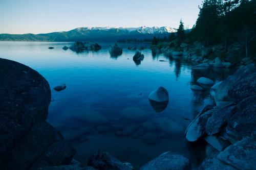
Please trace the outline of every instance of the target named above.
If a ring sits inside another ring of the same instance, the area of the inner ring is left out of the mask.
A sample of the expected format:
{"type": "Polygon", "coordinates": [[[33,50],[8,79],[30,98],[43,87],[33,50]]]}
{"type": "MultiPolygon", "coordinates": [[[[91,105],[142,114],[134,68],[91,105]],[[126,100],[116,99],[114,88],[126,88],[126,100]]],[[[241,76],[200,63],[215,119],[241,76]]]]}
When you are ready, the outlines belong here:
{"type": "Polygon", "coordinates": [[[28,66],[0,59],[0,80],[0,169],[69,163],[75,150],[45,121],[51,101],[46,79],[28,66]]]}

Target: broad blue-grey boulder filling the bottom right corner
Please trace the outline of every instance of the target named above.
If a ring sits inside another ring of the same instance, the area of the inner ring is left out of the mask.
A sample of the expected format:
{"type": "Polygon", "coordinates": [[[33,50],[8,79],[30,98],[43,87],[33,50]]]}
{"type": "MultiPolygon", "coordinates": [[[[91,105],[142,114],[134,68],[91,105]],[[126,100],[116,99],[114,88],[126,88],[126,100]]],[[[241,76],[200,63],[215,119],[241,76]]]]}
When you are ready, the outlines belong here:
{"type": "Polygon", "coordinates": [[[218,159],[238,169],[255,169],[256,141],[245,137],[222,151],[218,159]]]}

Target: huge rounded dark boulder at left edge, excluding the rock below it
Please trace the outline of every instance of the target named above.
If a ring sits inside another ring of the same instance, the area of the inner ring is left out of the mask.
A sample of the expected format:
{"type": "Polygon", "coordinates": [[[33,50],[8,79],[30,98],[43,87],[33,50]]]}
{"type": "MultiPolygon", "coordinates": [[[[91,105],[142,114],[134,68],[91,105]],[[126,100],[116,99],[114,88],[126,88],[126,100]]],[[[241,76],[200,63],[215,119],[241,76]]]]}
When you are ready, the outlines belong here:
{"type": "Polygon", "coordinates": [[[0,59],[0,161],[37,119],[46,119],[51,102],[48,82],[37,71],[0,59]]]}

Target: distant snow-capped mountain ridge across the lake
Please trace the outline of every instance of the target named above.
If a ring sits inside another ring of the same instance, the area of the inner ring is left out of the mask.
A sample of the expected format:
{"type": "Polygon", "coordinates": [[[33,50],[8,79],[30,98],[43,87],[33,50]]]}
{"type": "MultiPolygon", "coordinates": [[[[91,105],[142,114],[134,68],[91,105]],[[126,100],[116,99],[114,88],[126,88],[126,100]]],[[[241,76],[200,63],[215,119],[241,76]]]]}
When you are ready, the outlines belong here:
{"type": "Polygon", "coordinates": [[[86,40],[117,40],[123,38],[163,37],[176,32],[170,27],[81,27],[70,31],[47,34],[0,34],[1,41],[86,41],[86,40]]]}

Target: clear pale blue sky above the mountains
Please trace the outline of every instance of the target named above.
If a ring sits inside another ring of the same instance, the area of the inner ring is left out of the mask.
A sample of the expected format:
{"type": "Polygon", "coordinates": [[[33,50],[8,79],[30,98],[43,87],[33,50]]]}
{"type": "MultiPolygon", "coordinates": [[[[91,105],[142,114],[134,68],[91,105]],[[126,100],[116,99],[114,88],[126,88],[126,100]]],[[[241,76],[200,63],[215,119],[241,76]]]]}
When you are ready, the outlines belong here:
{"type": "Polygon", "coordinates": [[[193,27],[202,0],[0,0],[0,34],[79,27],[193,27]]]}

